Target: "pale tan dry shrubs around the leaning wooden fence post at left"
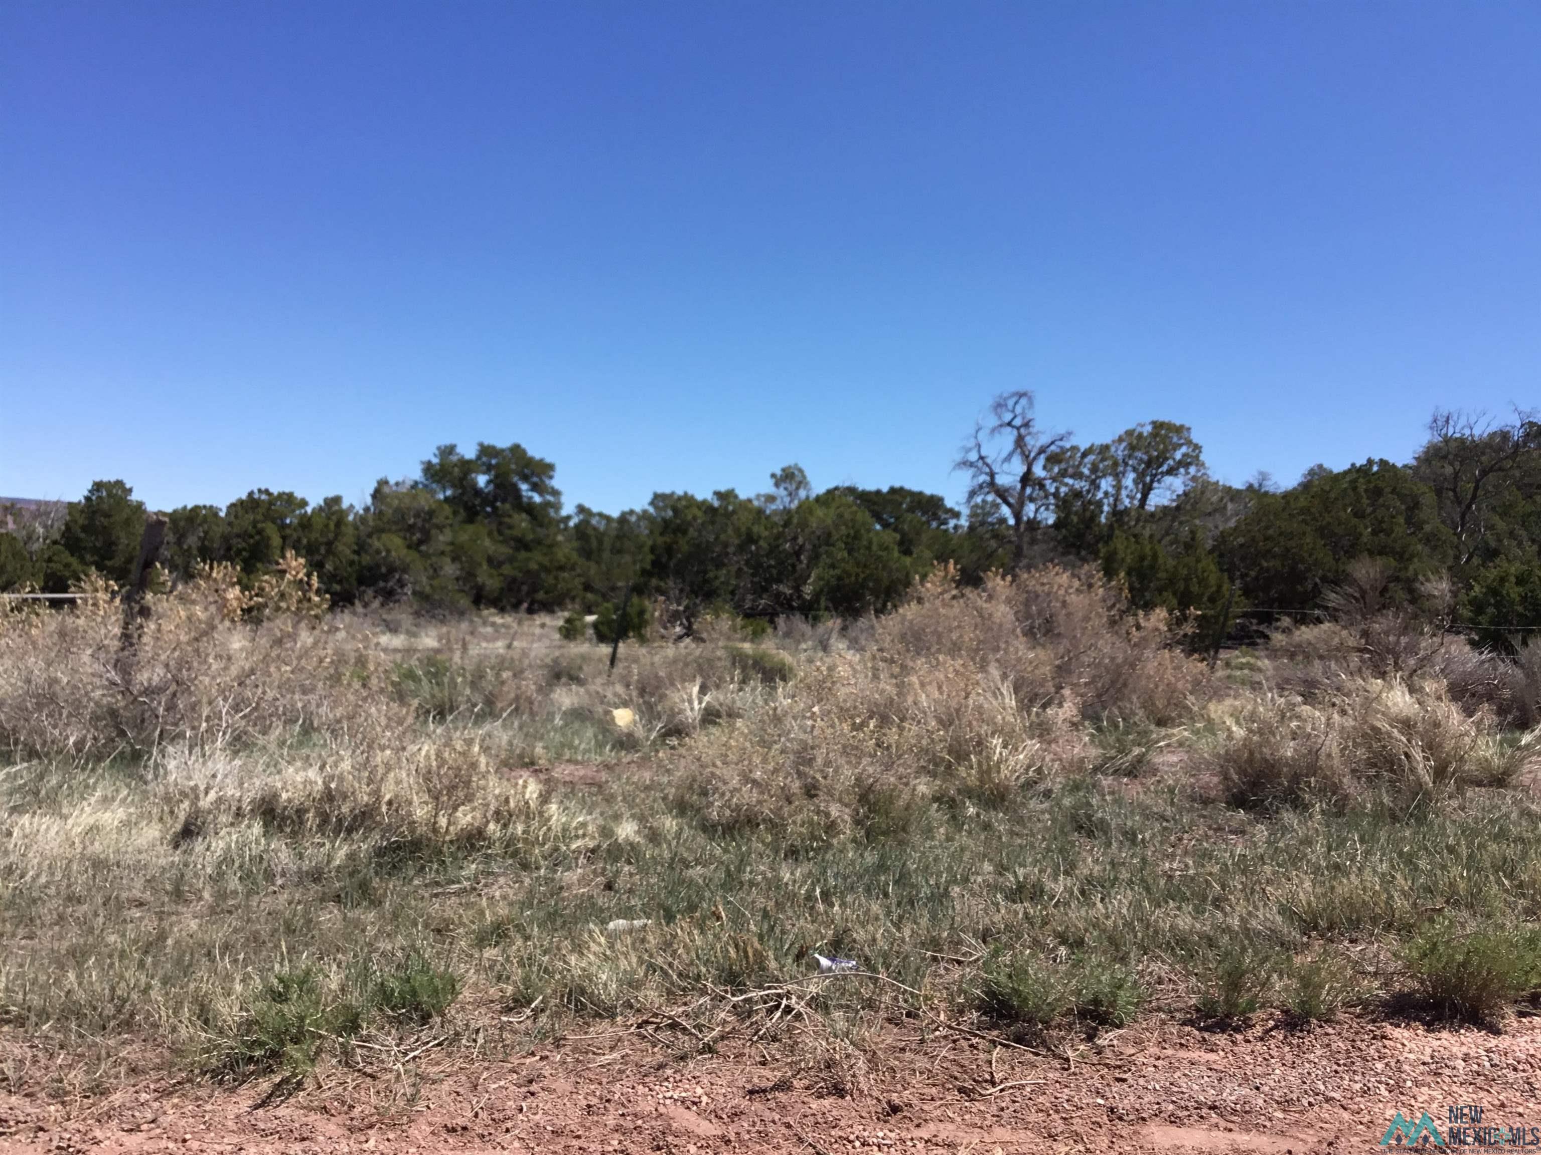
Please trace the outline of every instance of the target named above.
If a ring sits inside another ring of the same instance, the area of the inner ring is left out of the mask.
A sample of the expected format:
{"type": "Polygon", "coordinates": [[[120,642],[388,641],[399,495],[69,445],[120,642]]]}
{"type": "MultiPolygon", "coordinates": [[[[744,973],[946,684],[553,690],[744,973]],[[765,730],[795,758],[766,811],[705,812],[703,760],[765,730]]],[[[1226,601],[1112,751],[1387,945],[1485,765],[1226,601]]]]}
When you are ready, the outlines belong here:
{"type": "Polygon", "coordinates": [[[15,755],[211,750],[345,730],[387,707],[365,687],[365,656],[317,614],[314,578],[294,557],[253,590],[233,568],[208,567],[151,594],[133,645],[112,587],[92,581],[82,593],[69,610],[0,614],[0,741],[15,755]]]}

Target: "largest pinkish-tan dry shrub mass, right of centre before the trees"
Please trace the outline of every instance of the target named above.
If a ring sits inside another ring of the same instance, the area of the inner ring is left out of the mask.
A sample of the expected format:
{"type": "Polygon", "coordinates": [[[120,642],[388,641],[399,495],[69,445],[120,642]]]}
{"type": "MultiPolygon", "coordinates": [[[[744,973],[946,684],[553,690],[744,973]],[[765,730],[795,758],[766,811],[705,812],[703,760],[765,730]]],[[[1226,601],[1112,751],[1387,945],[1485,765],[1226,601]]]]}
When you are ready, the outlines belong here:
{"type": "Polygon", "coordinates": [[[697,738],[681,805],[718,829],[895,833],[928,799],[999,805],[1082,773],[1085,718],[1170,722],[1204,681],[1163,616],[1128,613],[1091,573],[982,590],[943,573],[874,628],[866,651],[809,659],[772,702],[697,738]]]}

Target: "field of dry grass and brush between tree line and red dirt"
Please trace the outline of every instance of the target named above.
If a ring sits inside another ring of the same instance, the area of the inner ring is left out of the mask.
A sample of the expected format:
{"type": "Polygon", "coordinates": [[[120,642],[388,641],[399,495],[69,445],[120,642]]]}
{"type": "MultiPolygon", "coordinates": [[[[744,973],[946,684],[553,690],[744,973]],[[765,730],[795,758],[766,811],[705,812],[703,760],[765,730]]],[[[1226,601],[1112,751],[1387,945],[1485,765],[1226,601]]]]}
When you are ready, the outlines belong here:
{"type": "Polygon", "coordinates": [[[108,590],[0,621],[8,1030],[242,1076],[652,1016],[860,1089],[895,1013],[1465,1007],[1427,912],[1481,942],[1541,916],[1535,742],[1501,725],[1533,699],[1499,713],[1449,656],[1376,673],[1314,627],[1211,678],[1043,570],[627,645],[612,676],[553,621],[317,616],[305,590],[210,573],[128,654],[108,590]],[[615,770],[542,770],[575,761],[615,770]],[[814,952],[880,978],[811,978],[814,952]]]}

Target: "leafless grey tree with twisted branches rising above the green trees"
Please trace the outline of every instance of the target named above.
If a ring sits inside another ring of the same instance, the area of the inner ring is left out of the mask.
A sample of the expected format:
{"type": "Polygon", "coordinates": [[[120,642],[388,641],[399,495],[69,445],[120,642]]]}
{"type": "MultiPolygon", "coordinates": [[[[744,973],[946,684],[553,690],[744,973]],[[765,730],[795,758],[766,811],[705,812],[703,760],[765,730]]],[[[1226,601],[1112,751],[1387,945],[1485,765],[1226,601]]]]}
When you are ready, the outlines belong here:
{"type": "Polygon", "coordinates": [[[1045,433],[1032,416],[1032,393],[1002,393],[959,454],[969,476],[968,497],[995,500],[1011,522],[1011,568],[1028,556],[1032,534],[1053,514],[1059,470],[1074,456],[1069,433],[1045,433]]]}

